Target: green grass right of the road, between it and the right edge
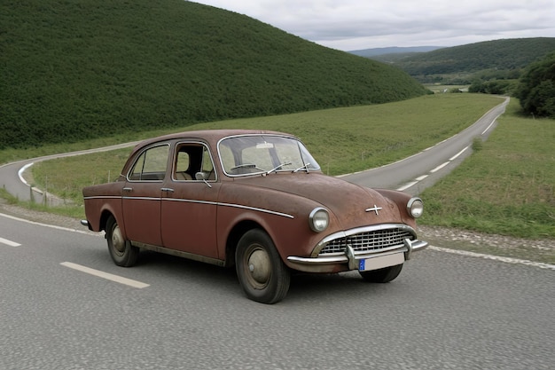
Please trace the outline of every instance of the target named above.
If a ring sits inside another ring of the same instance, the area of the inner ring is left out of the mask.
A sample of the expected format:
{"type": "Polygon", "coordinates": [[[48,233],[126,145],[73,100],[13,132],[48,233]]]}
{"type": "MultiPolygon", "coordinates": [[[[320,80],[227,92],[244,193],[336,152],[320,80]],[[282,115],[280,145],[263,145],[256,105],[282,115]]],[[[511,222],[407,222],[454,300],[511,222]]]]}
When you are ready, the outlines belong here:
{"type": "Polygon", "coordinates": [[[422,224],[555,239],[555,120],[518,109],[512,99],[481,150],[421,194],[422,224]]]}

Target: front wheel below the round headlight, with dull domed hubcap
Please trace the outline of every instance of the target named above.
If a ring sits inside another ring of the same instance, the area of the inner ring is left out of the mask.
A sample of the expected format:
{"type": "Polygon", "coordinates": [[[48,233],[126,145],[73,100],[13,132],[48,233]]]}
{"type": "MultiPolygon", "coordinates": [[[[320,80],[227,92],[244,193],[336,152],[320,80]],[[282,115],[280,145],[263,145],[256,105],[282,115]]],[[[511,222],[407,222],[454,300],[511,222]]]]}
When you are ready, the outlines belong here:
{"type": "Polygon", "coordinates": [[[253,229],[241,237],[235,251],[235,268],[249,299],[272,304],[287,295],[291,273],[266,232],[253,229]]]}

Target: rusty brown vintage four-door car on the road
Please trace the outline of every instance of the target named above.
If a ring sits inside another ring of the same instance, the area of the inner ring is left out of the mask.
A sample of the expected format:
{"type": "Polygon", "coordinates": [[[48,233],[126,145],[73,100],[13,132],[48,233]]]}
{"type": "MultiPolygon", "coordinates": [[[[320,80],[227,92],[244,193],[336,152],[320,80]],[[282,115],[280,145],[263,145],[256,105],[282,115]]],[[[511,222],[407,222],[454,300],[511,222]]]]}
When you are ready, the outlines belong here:
{"type": "Polygon", "coordinates": [[[418,240],[422,201],[325,176],[292,135],[204,130],[137,145],[113,183],[83,189],[90,230],[113,262],[140,249],[235,266],[246,295],[277,303],[290,274],[356,270],[395,279],[418,240]]]}

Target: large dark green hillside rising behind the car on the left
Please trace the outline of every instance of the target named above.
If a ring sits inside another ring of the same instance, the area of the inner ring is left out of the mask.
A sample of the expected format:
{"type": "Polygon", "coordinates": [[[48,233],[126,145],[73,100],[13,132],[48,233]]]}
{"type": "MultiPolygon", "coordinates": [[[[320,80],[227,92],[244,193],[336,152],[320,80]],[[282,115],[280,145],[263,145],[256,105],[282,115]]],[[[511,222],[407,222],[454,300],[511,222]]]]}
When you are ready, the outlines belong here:
{"type": "Polygon", "coordinates": [[[3,1],[0,149],[403,100],[409,75],[182,0],[3,1]]]}

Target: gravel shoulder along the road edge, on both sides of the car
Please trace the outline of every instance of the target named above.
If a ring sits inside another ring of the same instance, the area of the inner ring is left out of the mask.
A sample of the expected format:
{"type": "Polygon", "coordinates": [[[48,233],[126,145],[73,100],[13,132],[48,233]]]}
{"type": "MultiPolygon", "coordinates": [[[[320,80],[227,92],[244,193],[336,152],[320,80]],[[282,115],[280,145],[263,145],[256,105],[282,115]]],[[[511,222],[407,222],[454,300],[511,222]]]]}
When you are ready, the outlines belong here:
{"type": "MultiPolygon", "coordinates": [[[[0,212],[28,221],[51,224],[69,229],[87,229],[80,220],[73,217],[59,216],[48,212],[26,209],[9,204],[0,199],[0,212]]],[[[543,264],[555,264],[555,240],[529,240],[493,235],[481,232],[452,229],[447,227],[418,226],[418,237],[427,240],[430,245],[442,248],[460,249],[481,254],[519,258],[543,264]]]]}

